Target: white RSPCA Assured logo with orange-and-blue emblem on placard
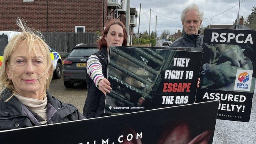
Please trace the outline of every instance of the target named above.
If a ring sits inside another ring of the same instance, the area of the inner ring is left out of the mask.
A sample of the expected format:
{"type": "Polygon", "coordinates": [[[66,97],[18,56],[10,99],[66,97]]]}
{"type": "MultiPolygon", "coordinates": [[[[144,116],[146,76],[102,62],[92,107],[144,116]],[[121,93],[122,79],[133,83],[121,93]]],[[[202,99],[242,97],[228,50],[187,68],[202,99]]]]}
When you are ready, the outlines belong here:
{"type": "Polygon", "coordinates": [[[252,70],[237,70],[234,90],[250,91],[252,70]]]}

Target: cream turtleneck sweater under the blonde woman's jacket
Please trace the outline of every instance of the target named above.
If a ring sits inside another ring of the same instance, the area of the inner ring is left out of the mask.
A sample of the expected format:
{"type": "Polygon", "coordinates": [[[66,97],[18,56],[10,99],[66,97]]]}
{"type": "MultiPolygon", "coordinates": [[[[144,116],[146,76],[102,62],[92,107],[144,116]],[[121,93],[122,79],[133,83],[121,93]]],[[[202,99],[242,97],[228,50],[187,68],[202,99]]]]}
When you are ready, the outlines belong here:
{"type": "Polygon", "coordinates": [[[45,95],[43,100],[27,98],[18,94],[14,94],[14,96],[20,103],[27,106],[30,110],[33,110],[44,119],[44,121],[39,121],[40,124],[45,124],[47,122],[47,95],[45,95]]]}

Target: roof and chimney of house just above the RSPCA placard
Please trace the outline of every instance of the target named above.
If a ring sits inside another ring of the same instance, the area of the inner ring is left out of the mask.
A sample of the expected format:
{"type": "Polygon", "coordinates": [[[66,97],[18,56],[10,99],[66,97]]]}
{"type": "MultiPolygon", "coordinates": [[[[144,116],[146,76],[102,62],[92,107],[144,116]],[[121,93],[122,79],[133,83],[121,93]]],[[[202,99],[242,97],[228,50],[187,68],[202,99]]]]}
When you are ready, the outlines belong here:
{"type": "MultiPolygon", "coordinates": [[[[215,29],[236,29],[236,21],[233,25],[208,25],[207,28],[215,28],[215,29]]],[[[244,18],[240,17],[238,29],[246,29],[252,30],[249,26],[244,24],[244,18]]]]}

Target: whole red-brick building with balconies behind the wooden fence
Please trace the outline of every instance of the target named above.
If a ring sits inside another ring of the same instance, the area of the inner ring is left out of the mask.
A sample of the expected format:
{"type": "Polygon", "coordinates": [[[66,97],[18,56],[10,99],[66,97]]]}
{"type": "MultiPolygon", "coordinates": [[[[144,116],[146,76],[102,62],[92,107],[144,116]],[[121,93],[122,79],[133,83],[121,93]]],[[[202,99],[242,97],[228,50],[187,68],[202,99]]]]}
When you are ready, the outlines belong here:
{"type": "MultiPolygon", "coordinates": [[[[116,17],[125,23],[125,0],[4,0],[0,3],[0,31],[18,30],[17,17],[41,32],[95,32],[116,17]],[[120,11],[119,11],[120,10],[120,11]]],[[[126,8],[126,6],[125,6],[126,8]]]]}

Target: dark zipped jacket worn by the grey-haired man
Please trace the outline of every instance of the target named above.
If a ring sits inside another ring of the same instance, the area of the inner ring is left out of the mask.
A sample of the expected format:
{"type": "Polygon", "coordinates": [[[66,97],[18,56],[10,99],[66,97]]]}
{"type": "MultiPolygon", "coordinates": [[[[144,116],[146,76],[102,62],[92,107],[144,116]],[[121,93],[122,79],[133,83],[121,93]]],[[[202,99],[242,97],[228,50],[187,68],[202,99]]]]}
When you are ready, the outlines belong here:
{"type": "Polygon", "coordinates": [[[199,30],[198,35],[188,35],[183,32],[183,36],[175,40],[169,47],[202,47],[204,36],[199,30]]]}

